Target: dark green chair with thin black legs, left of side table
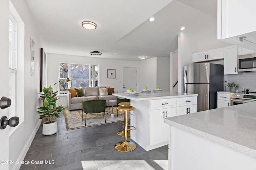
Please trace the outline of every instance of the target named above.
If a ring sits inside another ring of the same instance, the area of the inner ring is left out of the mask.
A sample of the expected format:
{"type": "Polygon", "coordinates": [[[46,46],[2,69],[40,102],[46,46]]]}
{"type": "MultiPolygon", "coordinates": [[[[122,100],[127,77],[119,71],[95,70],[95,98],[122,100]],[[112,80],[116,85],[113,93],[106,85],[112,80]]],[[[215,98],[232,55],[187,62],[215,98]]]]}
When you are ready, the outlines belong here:
{"type": "Polygon", "coordinates": [[[88,113],[103,112],[103,118],[105,119],[105,123],[106,123],[105,109],[106,109],[106,100],[104,100],[104,99],[82,101],[82,121],[83,121],[83,112],[84,112],[85,113],[85,126],[86,126],[86,115],[88,113]]]}

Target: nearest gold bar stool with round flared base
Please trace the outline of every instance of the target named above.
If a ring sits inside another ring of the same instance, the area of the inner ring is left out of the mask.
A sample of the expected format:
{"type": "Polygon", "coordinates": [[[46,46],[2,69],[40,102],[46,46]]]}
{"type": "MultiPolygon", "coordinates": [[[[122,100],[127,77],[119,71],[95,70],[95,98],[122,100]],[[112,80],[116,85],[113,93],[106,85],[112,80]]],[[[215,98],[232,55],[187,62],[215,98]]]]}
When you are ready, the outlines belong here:
{"type": "MultiPolygon", "coordinates": [[[[120,151],[120,152],[130,152],[136,148],[136,144],[132,141],[127,141],[127,112],[128,111],[134,111],[135,107],[133,106],[118,106],[117,109],[119,111],[124,111],[124,141],[118,142],[115,145],[115,149],[120,151]]],[[[134,127],[134,126],[131,126],[134,127]]],[[[129,129],[129,130],[135,130],[134,129],[129,129]]]]}

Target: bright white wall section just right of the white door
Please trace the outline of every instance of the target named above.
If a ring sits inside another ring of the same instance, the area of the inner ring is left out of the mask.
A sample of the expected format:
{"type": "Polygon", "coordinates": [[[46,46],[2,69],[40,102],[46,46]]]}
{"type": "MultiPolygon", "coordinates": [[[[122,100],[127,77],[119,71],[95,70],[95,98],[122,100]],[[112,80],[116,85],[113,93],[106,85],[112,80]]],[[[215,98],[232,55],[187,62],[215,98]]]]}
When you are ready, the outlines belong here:
{"type": "Polygon", "coordinates": [[[151,59],[146,59],[139,62],[138,65],[138,78],[137,78],[137,90],[140,91],[145,88],[148,90],[154,90],[156,88],[156,57],[151,59]]]}

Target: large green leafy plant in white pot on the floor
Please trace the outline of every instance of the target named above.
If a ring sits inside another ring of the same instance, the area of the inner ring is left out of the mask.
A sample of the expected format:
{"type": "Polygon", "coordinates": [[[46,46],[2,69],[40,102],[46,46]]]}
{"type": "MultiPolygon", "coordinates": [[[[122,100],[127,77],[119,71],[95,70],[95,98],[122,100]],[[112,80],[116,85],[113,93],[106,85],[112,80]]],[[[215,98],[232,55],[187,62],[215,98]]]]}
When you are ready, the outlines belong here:
{"type": "Polygon", "coordinates": [[[38,107],[37,113],[39,114],[39,119],[43,119],[44,117],[47,118],[48,121],[43,123],[43,135],[53,135],[58,131],[57,128],[57,122],[53,120],[55,117],[60,117],[60,113],[63,110],[63,106],[56,107],[56,101],[58,100],[56,98],[58,91],[53,92],[52,86],[49,88],[42,89],[43,93],[40,93],[43,100],[43,106],[38,107]]]}

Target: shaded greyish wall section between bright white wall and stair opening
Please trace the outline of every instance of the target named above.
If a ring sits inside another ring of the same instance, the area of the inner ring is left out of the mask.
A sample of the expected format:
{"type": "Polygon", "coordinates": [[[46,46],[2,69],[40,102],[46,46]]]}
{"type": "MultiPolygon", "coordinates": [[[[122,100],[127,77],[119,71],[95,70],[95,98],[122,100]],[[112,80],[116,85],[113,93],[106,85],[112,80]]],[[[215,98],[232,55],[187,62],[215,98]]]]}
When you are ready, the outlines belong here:
{"type": "Polygon", "coordinates": [[[170,57],[157,58],[156,87],[170,91],[170,57]]]}

